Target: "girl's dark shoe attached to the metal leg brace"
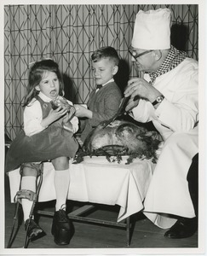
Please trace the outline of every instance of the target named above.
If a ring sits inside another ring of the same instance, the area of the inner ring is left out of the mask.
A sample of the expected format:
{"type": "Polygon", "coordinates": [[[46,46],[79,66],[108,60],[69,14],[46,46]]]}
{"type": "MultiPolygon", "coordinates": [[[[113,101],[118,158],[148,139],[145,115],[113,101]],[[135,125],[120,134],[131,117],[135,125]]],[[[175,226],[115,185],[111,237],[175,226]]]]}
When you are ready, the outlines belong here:
{"type": "Polygon", "coordinates": [[[26,219],[25,228],[27,230],[27,236],[30,240],[36,240],[46,235],[33,219],[31,219],[30,223],[29,218],[26,219]]]}

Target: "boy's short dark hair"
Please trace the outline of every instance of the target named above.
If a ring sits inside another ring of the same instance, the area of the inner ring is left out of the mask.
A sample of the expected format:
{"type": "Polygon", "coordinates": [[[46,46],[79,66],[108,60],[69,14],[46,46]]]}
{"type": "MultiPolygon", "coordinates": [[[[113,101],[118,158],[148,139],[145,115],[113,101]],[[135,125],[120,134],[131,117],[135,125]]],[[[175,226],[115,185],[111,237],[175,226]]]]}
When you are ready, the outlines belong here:
{"type": "Polygon", "coordinates": [[[91,55],[91,60],[96,62],[100,61],[101,59],[109,58],[110,61],[113,61],[116,66],[119,63],[118,52],[116,49],[112,48],[111,46],[102,47],[100,49],[96,49],[95,52],[91,55]]]}

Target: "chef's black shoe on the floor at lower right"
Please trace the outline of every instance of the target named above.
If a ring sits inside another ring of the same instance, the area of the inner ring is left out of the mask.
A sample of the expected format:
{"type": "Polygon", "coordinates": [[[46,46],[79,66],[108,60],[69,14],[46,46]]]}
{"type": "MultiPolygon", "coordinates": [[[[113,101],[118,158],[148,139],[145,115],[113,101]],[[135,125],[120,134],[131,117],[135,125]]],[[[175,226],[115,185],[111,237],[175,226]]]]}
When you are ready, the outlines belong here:
{"type": "Polygon", "coordinates": [[[197,218],[180,218],[164,236],[168,238],[187,238],[193,236],[198,229],[197,218]]]}

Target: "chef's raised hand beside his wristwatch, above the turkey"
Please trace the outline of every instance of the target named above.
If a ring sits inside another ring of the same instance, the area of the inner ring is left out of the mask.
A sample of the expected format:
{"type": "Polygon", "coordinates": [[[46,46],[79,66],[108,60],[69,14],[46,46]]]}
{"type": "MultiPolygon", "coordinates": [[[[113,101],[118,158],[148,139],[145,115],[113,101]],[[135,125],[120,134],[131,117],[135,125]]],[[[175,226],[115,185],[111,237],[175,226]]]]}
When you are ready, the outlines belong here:
{"type": "MultiPolygon", "coordinates": [[[[149,102],[154,102],[161,93],[149,84],[145,79],[134,78],[130,79],[127,88],[124,91],[124,96],[130,96],[130,99],[135,99],[135,96],[147,99],[149,102]]],[[[133,105],[131,101],[131,106],[133,105]]],[[[137,101],[135,104],[137,106],[137,101]]],[[[129,105],[129,104],[128,104],[129,105]]],[[[134,107],[135,108],[135,107],[134,107]]]]}

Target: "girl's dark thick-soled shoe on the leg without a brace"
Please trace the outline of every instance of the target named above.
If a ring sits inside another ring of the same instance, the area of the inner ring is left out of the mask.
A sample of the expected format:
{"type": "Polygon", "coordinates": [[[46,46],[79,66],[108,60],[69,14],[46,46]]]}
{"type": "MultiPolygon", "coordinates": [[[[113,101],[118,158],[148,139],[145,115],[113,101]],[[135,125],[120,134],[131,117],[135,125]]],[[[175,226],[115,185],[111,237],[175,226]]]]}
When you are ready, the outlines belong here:
{"type": "Polygon", "coordinates": [[[55,212],[51,232],[57,245],[70,243],[74,229],[72,221],[67,217],[65,210],[60,209],[55,212]]]}

